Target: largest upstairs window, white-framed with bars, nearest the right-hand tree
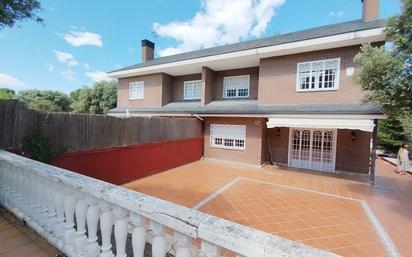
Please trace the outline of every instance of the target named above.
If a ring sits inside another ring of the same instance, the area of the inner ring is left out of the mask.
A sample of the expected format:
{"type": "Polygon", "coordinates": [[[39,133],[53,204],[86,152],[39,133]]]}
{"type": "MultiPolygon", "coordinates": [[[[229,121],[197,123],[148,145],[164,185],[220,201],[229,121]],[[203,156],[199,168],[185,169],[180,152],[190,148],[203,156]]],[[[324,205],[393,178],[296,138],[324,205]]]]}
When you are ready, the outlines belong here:
{"type": "Polygon", "coordinates": [[[339,88],[340,58],[300,62],[297,65],[296,91],[323,91],[339,88]]]}

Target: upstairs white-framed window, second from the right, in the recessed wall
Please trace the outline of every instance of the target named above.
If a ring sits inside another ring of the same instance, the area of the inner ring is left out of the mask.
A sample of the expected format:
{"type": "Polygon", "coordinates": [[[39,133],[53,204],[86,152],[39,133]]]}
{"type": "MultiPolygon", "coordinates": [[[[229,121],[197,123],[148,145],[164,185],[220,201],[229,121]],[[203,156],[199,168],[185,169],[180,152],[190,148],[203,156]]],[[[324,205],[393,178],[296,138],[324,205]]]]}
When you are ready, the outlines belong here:
{"type": "Polygon", "coordinates": [[[249,97],[250,75],[223,78],[223,98],[249,97]]]}

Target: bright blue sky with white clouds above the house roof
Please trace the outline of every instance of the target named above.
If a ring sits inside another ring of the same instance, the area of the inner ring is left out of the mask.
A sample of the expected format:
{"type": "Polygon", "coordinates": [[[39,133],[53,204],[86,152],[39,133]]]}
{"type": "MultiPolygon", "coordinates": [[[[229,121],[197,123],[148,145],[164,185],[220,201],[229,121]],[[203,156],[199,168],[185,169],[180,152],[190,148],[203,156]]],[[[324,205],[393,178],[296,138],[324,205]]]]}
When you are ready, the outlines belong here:
{"type": "MultiPolygon", "coordinates": [[[[360,0],[47,0],[39,16],[0,30],[0,88],[65,93],[155,57],[356,20],[360,0]]],[[[380,17],[400,12],[381,0],[380,17]]]]}

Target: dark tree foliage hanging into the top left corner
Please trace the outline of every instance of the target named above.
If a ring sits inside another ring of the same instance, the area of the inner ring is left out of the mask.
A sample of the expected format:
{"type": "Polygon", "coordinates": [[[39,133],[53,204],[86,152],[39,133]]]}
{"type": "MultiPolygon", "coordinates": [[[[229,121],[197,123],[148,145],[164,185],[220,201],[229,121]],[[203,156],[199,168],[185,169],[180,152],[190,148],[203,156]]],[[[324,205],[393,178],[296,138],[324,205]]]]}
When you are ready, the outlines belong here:
{"type": "Polygon", "coordinates": [[[0,0],[0,29],[13,27],[16,22],[35,20],[43,22],[37,13],[41,4],[37,0],[0,0]]]}

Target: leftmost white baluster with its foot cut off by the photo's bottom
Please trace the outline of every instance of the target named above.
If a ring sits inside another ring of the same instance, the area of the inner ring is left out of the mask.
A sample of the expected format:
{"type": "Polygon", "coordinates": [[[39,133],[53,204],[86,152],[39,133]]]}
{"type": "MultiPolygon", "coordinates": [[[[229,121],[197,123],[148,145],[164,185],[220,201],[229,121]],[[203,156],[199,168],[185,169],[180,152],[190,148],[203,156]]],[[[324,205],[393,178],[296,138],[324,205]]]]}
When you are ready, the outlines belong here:
{"type": "Polygon", "coordinates": [[[100,231],[102,232],[102,247],[100,257],[112,257],[112,230],[113,230],[113,212],[112,206],[105,202],[100,201],[99,207],[102,212],[100,216],[100,231]]]}

